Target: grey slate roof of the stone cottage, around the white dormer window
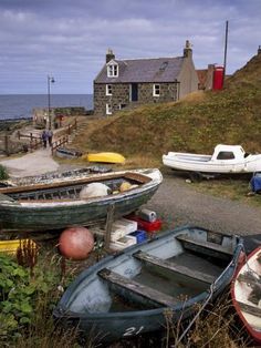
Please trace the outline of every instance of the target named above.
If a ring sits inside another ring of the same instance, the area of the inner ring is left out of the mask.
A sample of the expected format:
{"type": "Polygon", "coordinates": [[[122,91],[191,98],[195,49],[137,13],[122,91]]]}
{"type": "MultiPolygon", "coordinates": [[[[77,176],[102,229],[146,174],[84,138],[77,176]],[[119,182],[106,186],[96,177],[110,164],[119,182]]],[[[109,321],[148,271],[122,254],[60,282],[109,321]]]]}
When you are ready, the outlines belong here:
{"type": "Polygon", "coordinates": [[[140,82],[174,82],[181,70],[184,57],[117,60],[118,78],[107,78],[105,64],[94,80],[95,83],[140,83],[140,82]]]}

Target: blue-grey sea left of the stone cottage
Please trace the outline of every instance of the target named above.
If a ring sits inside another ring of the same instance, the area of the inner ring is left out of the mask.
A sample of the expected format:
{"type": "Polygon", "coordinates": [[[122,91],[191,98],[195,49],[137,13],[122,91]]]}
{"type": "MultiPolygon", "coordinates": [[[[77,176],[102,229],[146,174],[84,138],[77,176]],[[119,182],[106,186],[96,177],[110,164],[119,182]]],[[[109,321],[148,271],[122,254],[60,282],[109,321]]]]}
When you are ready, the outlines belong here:
{"type": "MultiPolygon", "coordinates": [[[[93,109],[93,94],[52,94],[51,108],[93,109]]],[[[0,121],[31,119],[34,108],[48,108],[46,94],[0,94],[0,121]]]]}

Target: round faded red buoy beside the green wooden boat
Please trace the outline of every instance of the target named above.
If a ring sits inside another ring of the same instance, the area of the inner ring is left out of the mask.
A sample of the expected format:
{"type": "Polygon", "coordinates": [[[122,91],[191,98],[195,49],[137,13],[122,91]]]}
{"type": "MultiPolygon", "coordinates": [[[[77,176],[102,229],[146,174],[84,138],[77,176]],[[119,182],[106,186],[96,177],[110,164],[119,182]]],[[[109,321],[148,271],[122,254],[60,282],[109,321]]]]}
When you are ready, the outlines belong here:
{"type": "Polygon", "coordinates": [[[66,258],[81,260],[87,258],[93,249],[92,233],[82,226],[70,227],[62,232],[59,238],[59,249],[66,258]]]}

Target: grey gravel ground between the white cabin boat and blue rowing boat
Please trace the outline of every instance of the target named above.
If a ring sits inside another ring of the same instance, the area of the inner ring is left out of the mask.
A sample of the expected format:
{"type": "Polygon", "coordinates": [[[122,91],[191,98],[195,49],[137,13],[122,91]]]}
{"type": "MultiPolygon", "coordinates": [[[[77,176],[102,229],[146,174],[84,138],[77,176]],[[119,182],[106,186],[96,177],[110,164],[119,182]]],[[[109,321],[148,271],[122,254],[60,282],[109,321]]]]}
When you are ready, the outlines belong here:
{"type": "MultiPolygon", "coordinates": [[[[261,196],[260,196],[261,199],[261,196]]],[[[164,174],[157,193],[146,205],[168,227],[184,224],[244,236],[247,252],[261,244],[261,209],[195,191],[174,174],[164,174]]]]}

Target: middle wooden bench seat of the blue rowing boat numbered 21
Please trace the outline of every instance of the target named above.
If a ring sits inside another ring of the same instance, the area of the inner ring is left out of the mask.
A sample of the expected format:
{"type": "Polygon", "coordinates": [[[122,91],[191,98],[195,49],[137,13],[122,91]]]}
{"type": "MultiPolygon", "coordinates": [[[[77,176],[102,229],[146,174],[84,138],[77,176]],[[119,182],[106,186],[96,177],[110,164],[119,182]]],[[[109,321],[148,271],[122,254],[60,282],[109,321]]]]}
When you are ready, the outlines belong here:
{"type": "Polygon", "coordinates": [[[168,262],[166,259],[163,259],[163,258],[159,258],[159,257],[156,257],[156,256],[143,253],[143,252],[137,252],[133,256],[148,264],[152,264],[152,265],[165,268],[165,269],[169,269],[171,272],[185,275],[187,277],[190,277],[192,279],[197,279],[207,284],[212,284],[216,279],[215,276],[194,269],[192,268],[194,265],[191,265],[191,268],[189,268],[184,265],[175,264],[173,260],[168,262]]]}

